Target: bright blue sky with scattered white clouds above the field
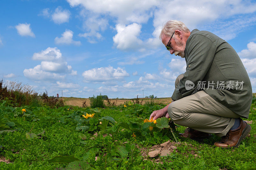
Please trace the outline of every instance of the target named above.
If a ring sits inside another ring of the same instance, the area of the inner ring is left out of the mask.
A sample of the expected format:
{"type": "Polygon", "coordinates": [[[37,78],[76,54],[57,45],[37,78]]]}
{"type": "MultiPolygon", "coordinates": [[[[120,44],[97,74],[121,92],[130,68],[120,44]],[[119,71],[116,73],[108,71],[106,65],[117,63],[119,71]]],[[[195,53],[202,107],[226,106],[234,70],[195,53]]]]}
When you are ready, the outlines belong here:
{"type": "Polygon", "coordinates": [[[168,19],[220,36],[256,92],[256,2],[37,0],[0,3],[0,78],[64,97],[171,97],[184,58],[158,36],[168,19]]]}

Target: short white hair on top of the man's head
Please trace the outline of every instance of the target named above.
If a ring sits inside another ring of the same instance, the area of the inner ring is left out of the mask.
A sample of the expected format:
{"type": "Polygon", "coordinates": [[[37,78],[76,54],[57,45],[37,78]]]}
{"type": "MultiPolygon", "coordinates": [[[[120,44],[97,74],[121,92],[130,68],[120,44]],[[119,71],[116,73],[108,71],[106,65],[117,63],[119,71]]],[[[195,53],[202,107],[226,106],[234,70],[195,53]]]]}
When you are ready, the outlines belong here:
{"type": "Polygon", "coordinates": [[[183,22],[177,20],[169,20],[164,24],[161,30],[159,35],[160,40],[162,35],[172,36],[173,32],[177,29],[184,31],[185,33],[190,32],[188,27],[183,22]]]}

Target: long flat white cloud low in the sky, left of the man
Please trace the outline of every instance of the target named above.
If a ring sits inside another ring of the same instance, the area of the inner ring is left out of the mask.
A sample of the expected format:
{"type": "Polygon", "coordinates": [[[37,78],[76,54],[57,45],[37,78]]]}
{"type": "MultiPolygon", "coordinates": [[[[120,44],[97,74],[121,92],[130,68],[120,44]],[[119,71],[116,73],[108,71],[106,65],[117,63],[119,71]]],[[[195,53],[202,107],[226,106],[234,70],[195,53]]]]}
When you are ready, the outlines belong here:
{"type": "Polygon", "coordinates": [[[122,80],[124,77],[129,76],[129,74],[122,68],[113,68],[112,66],[93,68],[91,70],[86,70],[82,74],[85,81],[113,81],[122,80]]]}

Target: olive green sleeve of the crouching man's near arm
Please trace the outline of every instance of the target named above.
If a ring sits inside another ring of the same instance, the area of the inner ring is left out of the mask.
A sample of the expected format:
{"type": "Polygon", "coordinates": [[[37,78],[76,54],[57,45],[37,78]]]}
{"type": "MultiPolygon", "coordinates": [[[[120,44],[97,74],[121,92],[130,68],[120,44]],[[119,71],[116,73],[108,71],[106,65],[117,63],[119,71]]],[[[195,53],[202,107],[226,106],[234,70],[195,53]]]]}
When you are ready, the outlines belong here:
{"type": "Polygon", "coordinates": [[[215,55],[215,44],[204,35],[194,34],[188,38],[186,43],[187,67],[184,77],[180,79],[178,87],[172,94],[172,100],[179,100],[182,97],[189,96],[197,88],[199,81],[204,79],[208,72],[215,55]],[[187,90],[185,83],[192,81],[193,89],[187,90]]]}

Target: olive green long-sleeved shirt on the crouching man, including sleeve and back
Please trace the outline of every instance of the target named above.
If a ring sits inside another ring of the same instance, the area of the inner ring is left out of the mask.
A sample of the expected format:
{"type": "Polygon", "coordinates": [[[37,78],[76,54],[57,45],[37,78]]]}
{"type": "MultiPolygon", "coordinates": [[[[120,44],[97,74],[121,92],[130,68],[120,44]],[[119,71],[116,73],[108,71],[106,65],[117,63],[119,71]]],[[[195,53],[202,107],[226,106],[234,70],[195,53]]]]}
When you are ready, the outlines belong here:
{"type": "Polygon", "coordinates": [[[248,118],[252,85],[231,45],[211,32],[194,29],[186,42],[185,59],[186,72],[172,94],[173,100],[204,90],[231,111],[248,118]],[[187,90],[188,80],[195,86],[187,90]]]}

